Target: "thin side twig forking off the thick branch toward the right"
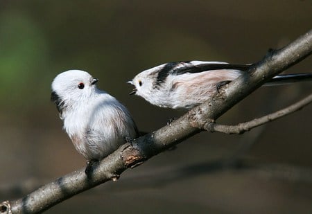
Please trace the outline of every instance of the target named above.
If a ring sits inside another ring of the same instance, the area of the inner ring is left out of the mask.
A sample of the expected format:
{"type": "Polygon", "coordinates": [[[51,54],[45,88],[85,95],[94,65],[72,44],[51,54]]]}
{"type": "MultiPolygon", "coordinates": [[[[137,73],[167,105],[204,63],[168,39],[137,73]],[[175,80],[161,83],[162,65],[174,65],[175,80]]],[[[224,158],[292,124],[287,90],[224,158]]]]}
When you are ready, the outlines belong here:
{"type": "Polygon", "coordinates": [[[266,116],[262,116],[261,118],[255,118],[252,121],[248,121],[245,123],[239,123],[238,125],[221,125],[217,123],[207,123],[204,127],[208,132],[223,132],[225,134],[243,134],[244,132],[248,132],[254,127],[258,127],[259,125],[263,125],[270,121],[275,121],[282,116],[286,116],[293,112],[296,112],[302,109],[304,106],[309,105],[312,102],[312,94],[307,96],[306,98],[290,105],[284,109],[281,109],[272,114],[268,114],[266,116]]]}

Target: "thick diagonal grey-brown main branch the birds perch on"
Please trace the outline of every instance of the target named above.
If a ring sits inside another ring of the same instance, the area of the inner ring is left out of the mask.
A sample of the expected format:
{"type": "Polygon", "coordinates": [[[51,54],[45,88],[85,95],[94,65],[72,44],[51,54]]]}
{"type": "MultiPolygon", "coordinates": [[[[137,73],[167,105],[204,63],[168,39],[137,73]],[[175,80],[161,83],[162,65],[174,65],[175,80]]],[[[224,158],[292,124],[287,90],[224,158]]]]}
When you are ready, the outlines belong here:
{"type": "Polygon", "coordinates": [[[221,89],[222,93],[216,92],[207,102],[191,109],[171,125],[122,145],[94,167],[90,178],[86,177],[84,168],[71,172],[21,199],[3,202],[0,204],[0,213],[40,213],[89,188],[106,181],[116,181],[124,170],[197,134],[207,123],[216,121],[266,80],[300,62],[311,52],[312,30],[288,46],[270,51],[263,60],[251,67],[249,73],[229,83],[226,89],[221,89]]]}

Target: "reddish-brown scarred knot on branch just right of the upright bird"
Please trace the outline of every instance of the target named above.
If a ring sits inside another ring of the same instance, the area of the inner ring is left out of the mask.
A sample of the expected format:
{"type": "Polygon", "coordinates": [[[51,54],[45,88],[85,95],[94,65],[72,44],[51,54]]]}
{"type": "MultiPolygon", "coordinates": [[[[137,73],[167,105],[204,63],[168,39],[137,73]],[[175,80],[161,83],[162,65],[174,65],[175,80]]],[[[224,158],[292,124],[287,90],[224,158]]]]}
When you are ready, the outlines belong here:
{"type": "Polygon", "coordinates": [[[132,141],[125,144],[125,148],[121,152],[121,159],[126,168],[135,168],[144,163],[147,158],[140,152],[139,145],[132,141]]]}

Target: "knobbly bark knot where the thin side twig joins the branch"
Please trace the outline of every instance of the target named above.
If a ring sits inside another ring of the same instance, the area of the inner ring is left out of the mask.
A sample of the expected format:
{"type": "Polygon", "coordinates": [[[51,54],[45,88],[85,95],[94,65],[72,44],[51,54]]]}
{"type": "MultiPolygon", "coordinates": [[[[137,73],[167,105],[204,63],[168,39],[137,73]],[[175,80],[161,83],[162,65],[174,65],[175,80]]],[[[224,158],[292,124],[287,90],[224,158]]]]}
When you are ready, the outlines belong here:
{"type": "Polygon", "coordinates": [[[206,130],[206,127],[209,126],[210,123],[214,123],[213,119],[206,118],[200,107],[191,109],[187,115],[187,118],[189,119],[189,124],[191,127],[196,127],[200,130],[206,130]]]}

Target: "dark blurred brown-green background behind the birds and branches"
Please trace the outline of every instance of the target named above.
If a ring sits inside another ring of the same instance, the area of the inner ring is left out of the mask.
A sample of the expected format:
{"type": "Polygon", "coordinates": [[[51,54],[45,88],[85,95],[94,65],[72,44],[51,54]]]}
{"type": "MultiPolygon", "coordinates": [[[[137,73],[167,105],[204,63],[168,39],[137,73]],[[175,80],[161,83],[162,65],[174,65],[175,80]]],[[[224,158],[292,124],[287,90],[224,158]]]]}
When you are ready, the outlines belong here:
{"type": "MultiPolygon", "coordinates": [[[[125,82],[180,60],[252,63],[311,28],[311,1],[0,1],[0,199],[85,167],[50,102],[55,75],[89,71],[140,130],[184,112],[154,107],[125,82]]],[[[286,73],[312,71],[307,57],[286,73]]],[[[220,118],[286,107],[311,82],[258,89],[220,118]]],[[[312,105],[243,135],[202,132],[118,182],[46,213],[310,213],[312,105]]]]}

